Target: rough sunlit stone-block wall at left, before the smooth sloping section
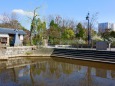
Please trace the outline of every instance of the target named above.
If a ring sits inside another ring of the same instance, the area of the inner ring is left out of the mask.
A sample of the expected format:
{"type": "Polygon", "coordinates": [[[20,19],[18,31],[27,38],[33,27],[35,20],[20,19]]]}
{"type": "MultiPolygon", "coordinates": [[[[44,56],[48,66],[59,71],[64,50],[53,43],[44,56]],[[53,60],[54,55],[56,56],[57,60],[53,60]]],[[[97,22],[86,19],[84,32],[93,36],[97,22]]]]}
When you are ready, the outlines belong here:
{"type": "Polygon", "coordinates": [[[36,46],[22,46],[22,47],[7,47],[0,49],[0,59],[8,59],[9,57],[22,56],[27,52],[36,49],[36,46]]]}

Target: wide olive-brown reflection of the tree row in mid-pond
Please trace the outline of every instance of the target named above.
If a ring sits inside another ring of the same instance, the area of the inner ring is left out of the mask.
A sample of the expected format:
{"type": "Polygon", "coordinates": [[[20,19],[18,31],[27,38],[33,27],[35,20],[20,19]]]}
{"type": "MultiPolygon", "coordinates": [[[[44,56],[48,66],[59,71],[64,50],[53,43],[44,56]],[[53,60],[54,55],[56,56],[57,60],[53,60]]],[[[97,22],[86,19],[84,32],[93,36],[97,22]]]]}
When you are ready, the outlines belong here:
{"type": "MultiPolygon", "coordinates": [[[[67,64],[67,63],[61,63],[61,62],[54,62],[54,61],[48,61],[44,63],[37,63],[36,65],[32,65],[33,69],[33,75],[40,75],[42,74],[47,75],[47,77],[51,77],[52,75],[56,75],[57,78],[61,76],[61,73],[64,74],[71,74],[74,70],[76,70],[77,66],[73,64],[67,64]],[[36,68],[37,67],[37,68],[36,68]]],[[[78,70],[80,67],[78,67],[78,70]]]]}

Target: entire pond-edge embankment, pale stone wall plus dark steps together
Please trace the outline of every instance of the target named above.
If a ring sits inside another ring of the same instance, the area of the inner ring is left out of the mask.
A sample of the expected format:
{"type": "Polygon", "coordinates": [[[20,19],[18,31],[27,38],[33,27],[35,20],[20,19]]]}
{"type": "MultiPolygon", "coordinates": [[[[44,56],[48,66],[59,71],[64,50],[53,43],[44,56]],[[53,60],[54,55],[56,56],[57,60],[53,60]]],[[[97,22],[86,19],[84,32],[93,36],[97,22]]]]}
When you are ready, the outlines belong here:
{"type": "Polygon", "coordinates": [[[60,57],[106,63],[115,63],[115,51],[78,50],[63,48],[7,47],[0,51],[0,59],[12,57],[60,57]]]}

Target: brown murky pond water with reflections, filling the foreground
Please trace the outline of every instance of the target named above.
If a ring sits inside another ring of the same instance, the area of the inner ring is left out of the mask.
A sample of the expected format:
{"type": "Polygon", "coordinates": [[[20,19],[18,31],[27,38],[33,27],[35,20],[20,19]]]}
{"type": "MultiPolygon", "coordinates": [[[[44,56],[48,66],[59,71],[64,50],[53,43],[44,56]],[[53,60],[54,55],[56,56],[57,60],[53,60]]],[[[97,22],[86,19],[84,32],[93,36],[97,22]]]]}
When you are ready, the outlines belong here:
{"type": "Polygon", "coordinates": [[[54,57],[20,61],[3,63],[0,86],[115,86],[114,64],[54,57]]]}

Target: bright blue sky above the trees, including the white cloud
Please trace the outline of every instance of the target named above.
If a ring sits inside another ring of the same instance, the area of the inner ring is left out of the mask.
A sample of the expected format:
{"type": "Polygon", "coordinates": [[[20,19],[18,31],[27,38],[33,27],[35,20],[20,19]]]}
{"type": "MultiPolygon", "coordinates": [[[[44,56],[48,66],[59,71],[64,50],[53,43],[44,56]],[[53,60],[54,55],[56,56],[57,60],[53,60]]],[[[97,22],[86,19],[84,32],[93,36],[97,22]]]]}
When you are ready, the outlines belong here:
{"type": "Polygon", "coordinates": [[[20,15],[22,25],[29,29],[28,12],[31,14],[38,6],[41,17],[60,15],[76,21],[85,21],[88,12],[91,15],[98,12],[98,22],[115,23],[115,0],[1,0],[0,15],[15,11],[20,15]]]}

